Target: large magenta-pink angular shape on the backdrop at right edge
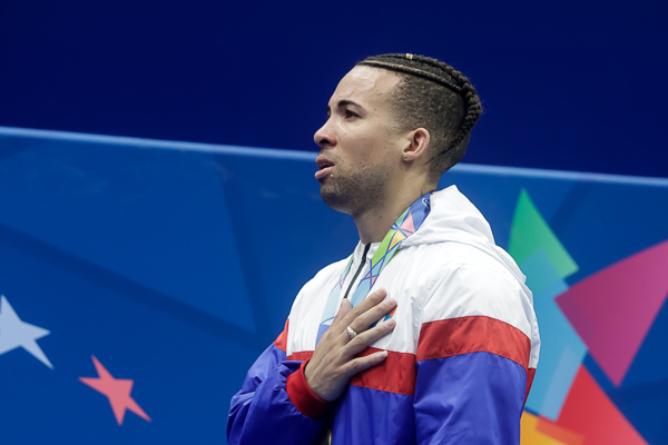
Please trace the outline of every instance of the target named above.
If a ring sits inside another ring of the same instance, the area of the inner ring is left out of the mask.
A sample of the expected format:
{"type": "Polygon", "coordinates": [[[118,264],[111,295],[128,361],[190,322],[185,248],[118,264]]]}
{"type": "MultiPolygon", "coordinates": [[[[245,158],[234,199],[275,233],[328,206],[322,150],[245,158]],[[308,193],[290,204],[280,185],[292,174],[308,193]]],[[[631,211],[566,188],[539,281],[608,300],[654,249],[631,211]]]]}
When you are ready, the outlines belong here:
{"type": "Polygon", "coordinates": [[[556,298],[589,353],[621,385],[668,294],[668,240],[584,278],[556,298]]]}

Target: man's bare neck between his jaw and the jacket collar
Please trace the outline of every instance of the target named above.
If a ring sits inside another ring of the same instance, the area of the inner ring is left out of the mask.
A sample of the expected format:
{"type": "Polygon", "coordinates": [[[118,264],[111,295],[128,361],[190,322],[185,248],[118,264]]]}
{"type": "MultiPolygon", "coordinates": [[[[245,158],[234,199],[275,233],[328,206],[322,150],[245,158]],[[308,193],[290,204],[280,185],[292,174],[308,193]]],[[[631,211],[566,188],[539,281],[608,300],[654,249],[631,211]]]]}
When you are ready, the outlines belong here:
{"type": "Polygon", "coordinates": [[[362,244],[380,243],[392,228],[396,218],[418,198],[430,190],[411,190],[390,195],[385,201],[360,215],[353,216],[362,244]]]}

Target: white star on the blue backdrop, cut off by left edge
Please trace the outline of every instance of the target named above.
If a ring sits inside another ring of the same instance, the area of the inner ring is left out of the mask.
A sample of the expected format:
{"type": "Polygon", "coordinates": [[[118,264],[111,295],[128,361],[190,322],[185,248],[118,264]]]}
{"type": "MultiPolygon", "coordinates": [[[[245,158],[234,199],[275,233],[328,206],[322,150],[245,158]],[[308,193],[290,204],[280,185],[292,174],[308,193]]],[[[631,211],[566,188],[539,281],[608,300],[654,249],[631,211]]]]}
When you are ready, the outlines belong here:
{"type": "Polygon", "coordinates": [[[51,333],[47,329],[21,322],[4,295],[0,296],[0,355],[20,346],[53,369],[53,365],[36,342],[49,334],[51,333]]]}

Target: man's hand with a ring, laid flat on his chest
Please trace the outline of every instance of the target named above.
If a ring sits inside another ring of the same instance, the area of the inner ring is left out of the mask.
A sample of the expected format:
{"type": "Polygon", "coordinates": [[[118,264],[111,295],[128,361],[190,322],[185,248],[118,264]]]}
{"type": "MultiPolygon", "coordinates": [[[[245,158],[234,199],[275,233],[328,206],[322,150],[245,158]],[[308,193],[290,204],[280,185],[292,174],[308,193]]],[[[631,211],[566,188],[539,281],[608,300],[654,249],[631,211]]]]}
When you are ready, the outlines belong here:
{"type": "Polygon", "coordinates": [[[386,295],[385,289],[376,290],[353,309],[347,298],[343,300],[332,326],[323,334],[313,352],[313,358],[304,368],[306,384],[316,396],[327,402],[337,399],[352,376],[377,365],[387,357],[386,350],[355,357],[369,345],[394,329],[396,325],[394,318],[379,323],[372,329],[369,328],[396,306],[396,301],[392,298],[383,301],[386,295]],[[348,326],[357,333],[353,339],[346,333],[348,326]]]}

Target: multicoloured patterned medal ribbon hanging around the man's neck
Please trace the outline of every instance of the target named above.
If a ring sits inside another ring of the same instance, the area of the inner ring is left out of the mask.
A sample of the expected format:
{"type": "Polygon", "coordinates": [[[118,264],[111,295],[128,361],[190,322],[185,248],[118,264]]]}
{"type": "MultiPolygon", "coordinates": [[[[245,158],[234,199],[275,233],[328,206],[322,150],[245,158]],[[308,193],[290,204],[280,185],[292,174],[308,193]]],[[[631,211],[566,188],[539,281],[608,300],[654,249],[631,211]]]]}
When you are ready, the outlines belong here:
{"type": "MultiPolygon", "coordinates": [[[[369,293],[371,288],[375,284],[379,275],[383,271],[385,266],[390,263],[394,254],[399,250],[402,241],[413,235],[415,230],[422,226],[424,219],[429,215],[431,210],[430,199],[432,194],[426,194],[418,199],[415,202],[411,205],[407,209],[404,210],[403,214],[394,221],[385,238],[373,254],[371,261],[366,267],[366,273],[362,276],[362,280],[357,285],[353,297],[351,298],[351,305],[355,307],[360,301],[362,301],[369,293]]],[[[336,309],[338,307],[338,301],[341,298],[341,290],[343,289],[343,284],[347,278],[348,273],[351,271],[351,267],[353,266],[353,255],[348,259],[347,265],[338,277],[338,281],[334,285],[334,288],[330,293],[330,297],[327,298],[327,304],[325,305],[325,310],[323,312],[323,317],[321,319],[321,324],[317,329],[317,342],[320,342],[321,337],[330,328],[334,317],[336,316],[336,309]]],[[[392,317],[394,310],[385,316],[384,319],[392,317]]]]}

